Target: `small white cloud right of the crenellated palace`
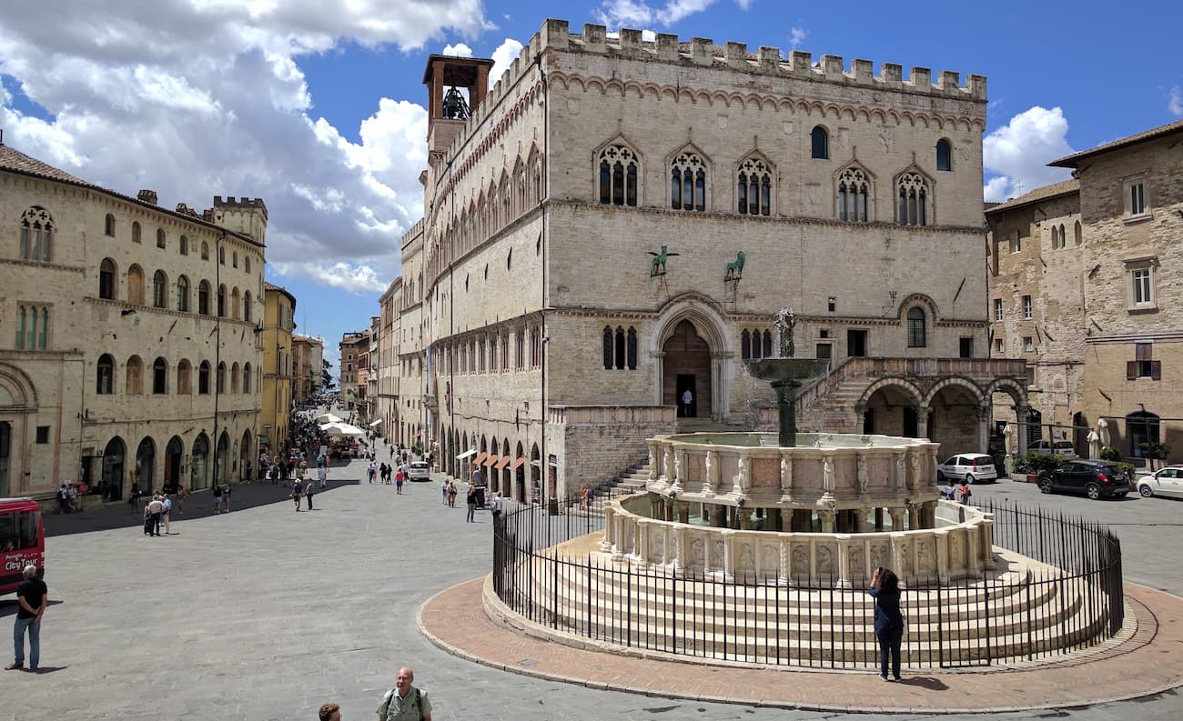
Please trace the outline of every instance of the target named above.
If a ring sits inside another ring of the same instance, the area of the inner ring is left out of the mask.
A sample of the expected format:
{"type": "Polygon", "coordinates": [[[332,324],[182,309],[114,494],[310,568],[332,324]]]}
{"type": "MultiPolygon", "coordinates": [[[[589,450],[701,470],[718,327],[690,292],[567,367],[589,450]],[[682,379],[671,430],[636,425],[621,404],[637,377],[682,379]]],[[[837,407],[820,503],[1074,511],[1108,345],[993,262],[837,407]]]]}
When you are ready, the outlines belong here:
{"type": "Polygon", "coordinates": [[[1068,169],[1047,167],[1073,152],[1067,132],[1068,121],[1059,108],[1036,105],[988,135],[982,141],[982,161],[995,177],[983,188],[985,200],[1004,201],[1068,180],[1068,169]]]}

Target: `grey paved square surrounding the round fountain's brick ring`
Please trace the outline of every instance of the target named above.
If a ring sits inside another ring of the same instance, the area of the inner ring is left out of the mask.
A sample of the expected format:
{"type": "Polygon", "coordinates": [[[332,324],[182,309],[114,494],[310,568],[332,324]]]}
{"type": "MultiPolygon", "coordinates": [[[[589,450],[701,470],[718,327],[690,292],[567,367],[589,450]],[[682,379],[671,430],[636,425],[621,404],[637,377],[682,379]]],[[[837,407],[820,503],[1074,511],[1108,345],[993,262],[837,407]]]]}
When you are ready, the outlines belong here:
{"type": "MultiPolygon", "coordinates": [[[[285,501],[186,518],[163,538],[138,526],[51,538],[43,671],[0,674],[0,719],[311,720],[331,700],[347,721],[369,720],[401,664],[415,668],[437,721],[848,716],[595,690],[444,652],[416,630],[416,610],[487,572],[490,517],[465,524],[463,507],[440,504],[438,480],[395,495],[394,486],[366,483],[363,470],[361,461],[337,468],[311,513],[285,501]]],[[[1174,573],[1183,506],[1175,501],[1095,504],[1008,482],[976,492],[1112,522],[1127,579],[1183,593],[1174,573]]],[[[5,623],[14,612],[12,597],[0,600],[5,623]]],[[[1183,701],[1169,691],[993,717],[1174,721],[1183,701]]]]}

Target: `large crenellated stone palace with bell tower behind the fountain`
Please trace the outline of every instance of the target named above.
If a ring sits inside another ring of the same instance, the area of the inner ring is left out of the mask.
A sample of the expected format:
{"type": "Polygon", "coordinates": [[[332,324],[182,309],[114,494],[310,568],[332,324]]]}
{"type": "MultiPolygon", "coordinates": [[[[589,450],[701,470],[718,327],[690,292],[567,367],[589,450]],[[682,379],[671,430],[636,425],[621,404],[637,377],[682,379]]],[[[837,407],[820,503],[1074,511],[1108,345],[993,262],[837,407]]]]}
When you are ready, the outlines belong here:
{"type": "Polygon", "coordinates": [[[551,496],[654,433],[769,428],[743,360],[782,306],[832,360],[803,429],[978,450],[996,391],[1026,405],[987,347],[984,78],[561,20],[490,91],[491,65],[428,59],[402,240],[401,383],[446,470],[551,496]]]}

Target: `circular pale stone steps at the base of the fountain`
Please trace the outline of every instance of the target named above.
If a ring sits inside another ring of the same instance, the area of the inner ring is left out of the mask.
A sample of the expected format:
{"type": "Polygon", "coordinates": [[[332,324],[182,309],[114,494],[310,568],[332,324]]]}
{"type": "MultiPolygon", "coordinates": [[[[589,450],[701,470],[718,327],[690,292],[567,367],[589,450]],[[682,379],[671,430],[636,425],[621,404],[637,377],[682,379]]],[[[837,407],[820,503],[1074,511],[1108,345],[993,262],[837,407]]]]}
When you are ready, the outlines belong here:
{"type": "MultiPolygon", "coordinates": [[[[1106,612],[1095,589],[1009,552],[1000,556],[1009,557],[998,564],[1004,570],[977,584],[905,592],[905,665],[1054,660],[1104,639],[1106,612]]],[[[627,573],[607,556],[589,558],[526,580],[534,599],[547,599],[534,621],[565,630],[556,635],[561,642],[575,635],[730,662],[877,668],[873,600],[861,589],[627,573]]]]}

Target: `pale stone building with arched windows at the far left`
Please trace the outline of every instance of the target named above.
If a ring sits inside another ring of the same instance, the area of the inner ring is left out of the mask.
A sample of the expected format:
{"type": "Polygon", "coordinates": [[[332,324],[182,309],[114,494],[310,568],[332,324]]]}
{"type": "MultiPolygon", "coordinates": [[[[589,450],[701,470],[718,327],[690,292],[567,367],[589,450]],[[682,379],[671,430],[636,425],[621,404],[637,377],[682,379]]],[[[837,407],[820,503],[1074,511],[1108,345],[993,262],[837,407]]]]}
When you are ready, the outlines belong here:
{"type": "Polygon", "coordinates": [[[206,488],[257,453],[267,210],[196,213],[0,145],[0,496],[206,488]]]}

